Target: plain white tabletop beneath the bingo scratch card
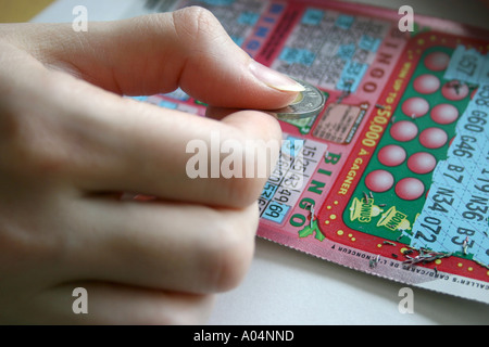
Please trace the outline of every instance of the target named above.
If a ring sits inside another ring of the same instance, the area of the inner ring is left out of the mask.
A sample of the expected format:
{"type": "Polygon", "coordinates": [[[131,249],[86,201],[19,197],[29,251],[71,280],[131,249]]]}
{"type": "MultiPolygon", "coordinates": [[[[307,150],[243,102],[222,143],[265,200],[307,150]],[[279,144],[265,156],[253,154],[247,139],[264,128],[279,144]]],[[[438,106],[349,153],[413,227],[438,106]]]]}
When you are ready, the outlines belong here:
{"type": "MultiPolygon", "coordinates": [[[[71,22],[83,4],[89,21],[127,14],[139,0],[58,0],[34,22],[71,22]]],[[[476,0],[359,0],[489,28],[489,10],[476,0]]],[[[398,309],[405,285],[324,261],[258,239],[250,271],[220,294],[210,324],[489,324],[489,306],[415,288],[414,312],[398,309]]],[[[488,293],[489,295],[489,293],[488,293]]]]}

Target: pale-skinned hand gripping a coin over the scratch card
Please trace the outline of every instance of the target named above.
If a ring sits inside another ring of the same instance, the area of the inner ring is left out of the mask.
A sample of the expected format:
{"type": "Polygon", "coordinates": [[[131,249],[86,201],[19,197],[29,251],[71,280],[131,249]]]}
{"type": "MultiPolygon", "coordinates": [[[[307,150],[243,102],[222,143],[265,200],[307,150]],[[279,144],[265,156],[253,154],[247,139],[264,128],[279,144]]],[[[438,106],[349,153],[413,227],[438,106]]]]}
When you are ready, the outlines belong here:
{"type": "Polygon", "coordinates": [[[186,144],[280,141],[272,116],[223,107],[298,91],[199,8],[87,33],[0,25],[0,323],[204,323],[252,259],[266,178],[191,180],[186,144]],[[122,98],[177,87],[209,117],[122,98]],[[76,287],[88,314],[72,310],[76,287]]]}

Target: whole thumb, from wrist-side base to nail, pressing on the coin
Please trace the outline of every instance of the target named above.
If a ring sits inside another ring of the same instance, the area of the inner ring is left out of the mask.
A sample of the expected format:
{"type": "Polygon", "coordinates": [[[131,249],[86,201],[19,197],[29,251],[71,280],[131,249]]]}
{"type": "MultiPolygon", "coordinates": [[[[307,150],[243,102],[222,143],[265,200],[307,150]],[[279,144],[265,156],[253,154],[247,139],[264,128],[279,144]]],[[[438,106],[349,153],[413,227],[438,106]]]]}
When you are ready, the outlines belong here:
{"type": "Polygon", "coordinates": [[[89,23],[88,31],[42,24],[29,29],[26,48],[47,65],[120,94],[149,95],[180,87],[213,106],[274,110],[303,90],[251,59],[211,12],[198,7],[89,23]]]}

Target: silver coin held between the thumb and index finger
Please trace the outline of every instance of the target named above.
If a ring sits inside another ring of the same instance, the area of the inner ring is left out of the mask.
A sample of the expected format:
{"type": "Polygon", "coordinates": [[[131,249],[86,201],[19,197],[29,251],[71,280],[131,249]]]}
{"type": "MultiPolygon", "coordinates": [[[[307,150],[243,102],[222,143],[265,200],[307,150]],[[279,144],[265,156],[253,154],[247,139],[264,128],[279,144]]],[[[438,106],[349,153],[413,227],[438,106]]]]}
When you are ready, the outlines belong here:
{"type": "Polygon", "coordinates": [[[291,78],[303,86],[304,91],[301,91],[290,105],[279,110],[267,110],[266,112],[276,116],[278,119],[300,119],[318,115],[326,102],[323,92],[303,80],[291,78]]]}

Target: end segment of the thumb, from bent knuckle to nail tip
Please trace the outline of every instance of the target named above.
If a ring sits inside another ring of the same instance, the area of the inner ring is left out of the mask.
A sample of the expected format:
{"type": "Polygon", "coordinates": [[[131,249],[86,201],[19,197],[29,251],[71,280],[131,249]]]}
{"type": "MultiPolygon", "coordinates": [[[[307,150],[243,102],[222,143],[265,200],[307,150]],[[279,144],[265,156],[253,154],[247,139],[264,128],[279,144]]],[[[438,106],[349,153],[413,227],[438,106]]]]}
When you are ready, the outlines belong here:
{"type": "Polygon", "coordinates": [[[211,12],[190,8],[174,13],[186,68],[179,87],[218,107],[274,110],[290,104],[303,87],[252,60],[227,35],[211,12]],[[193,21],[187,16],[197,16],[193,21]],[[184,28],[184,30],[181,30],[184,28]],[[186,43],[184,43],[186,42],[186,43]]]}

